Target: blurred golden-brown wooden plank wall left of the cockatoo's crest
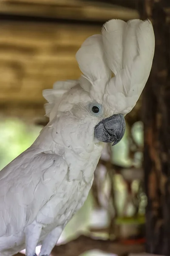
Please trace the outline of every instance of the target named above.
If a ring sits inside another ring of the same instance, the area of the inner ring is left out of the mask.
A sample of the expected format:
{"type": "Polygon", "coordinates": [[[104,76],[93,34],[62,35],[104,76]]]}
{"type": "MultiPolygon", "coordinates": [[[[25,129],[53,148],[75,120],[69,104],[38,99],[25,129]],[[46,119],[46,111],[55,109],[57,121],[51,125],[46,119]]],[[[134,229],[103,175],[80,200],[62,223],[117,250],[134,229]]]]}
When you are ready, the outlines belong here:
{"type": "Polygon", "coordinates": [[[0,101],[41,103],[54,81],[77,79],[75,53],[100,27],[3,22],[0,26],[0,101]]]}

